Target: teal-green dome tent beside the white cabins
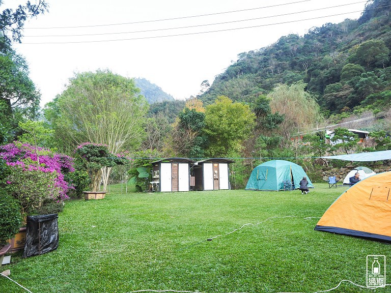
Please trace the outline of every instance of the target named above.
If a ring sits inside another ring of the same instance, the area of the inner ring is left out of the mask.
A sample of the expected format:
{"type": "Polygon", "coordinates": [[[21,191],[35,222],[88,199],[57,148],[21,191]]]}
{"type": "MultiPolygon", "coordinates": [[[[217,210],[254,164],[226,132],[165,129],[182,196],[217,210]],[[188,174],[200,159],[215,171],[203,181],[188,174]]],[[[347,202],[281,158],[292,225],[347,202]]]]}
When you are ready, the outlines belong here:
{"type": "Polygon", "coordinates": [[[308,187],[314,188],[303,168],[284,160],[272,160],[258,165],[248,179],[246,190],[284,190],[284,180],[290,180],[299,188],[300,180],[307,178],[308,187]]]}

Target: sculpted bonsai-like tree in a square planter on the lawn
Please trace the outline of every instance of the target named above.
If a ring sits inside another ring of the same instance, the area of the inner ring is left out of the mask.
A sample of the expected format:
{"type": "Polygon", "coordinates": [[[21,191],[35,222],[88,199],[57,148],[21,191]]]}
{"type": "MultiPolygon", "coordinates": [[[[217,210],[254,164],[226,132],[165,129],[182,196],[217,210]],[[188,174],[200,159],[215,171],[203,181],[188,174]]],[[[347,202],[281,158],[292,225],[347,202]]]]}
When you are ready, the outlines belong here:
{"type": "Polygon", "coordinates": [[[102,167],[122,165],[126,159],[112,154],[107,145],[102,143],[83,142],[76,148],[75,153],[87,168],[91,180],[90,191],[83,192],[85,199],[104,198],[106,191],[100,190],[102,167]]]}

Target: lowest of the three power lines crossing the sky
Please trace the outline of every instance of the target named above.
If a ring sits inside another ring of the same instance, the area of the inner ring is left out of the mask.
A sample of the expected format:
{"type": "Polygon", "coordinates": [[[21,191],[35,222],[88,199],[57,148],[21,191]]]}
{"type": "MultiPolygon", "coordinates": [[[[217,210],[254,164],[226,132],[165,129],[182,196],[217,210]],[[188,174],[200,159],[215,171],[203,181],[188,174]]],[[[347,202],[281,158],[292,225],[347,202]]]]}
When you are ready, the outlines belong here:
{"type": "MultiPolygon", "coordinates": [[[[386,7],[391,7],[391,5],[384,6],[384,7],[377,7],[377,8],[373,8],[373,9],[386,8],[386,7]]],[[[209,33],[218,33],[218,32],[228,32],[228,31],[244,30],[246,28],[271,26],[271,25],[286,24],[286,23],[293,23],[293,22],[306,21],[306,20],[314,20],[314,19],[320,19],[320,18],[326,18],[326,17],[332,17],[332,16],[340,16],[340,15],[346,15],[346,14],[357,13],[357,12],[361,12],[361,10],[359,10],[359,11],[351,11],[351,12],[346,12],[346,13],[333,14],[333,15],[327,15],[327,16],[319,16],[319,17],[312,17],[312,18],[306,18],[306,19],[299,19],[299,20],[275,22],[275,23],[252,25],[252,26],[244,26],[244,27],[236,27],[236,28],[227,28],[227,29],[224,29],[224,30],[215,30],[215,31],[207,31],[207,32],[197,32],[197,33],[185,33],[185,34],[176,34],[176,35],[139,37],[139,38],[115,39],[115,40],[74,41],[74,42],[42,42],[42,43],[22,43],[22,44],[41,45],[41,44],[101,43],[101,42],[133,41],[133,40],[157,39],[157,38],[167,38],[167,37],[191,36],[191,35],[200,35],[200,34],[209,34],[209,33]]]]}

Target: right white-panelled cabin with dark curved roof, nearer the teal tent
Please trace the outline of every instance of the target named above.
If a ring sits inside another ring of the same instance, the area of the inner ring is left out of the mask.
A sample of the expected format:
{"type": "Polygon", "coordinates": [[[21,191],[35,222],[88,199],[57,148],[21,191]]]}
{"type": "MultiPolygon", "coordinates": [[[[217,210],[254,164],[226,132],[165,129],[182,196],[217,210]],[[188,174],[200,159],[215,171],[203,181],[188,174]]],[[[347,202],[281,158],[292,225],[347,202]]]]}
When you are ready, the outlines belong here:
{"type": "Polygon", "coordinates": [[[233,160],[211,158],[194,162],[191,166],[195,190],[231,189],[229,164],[233,160]]]}

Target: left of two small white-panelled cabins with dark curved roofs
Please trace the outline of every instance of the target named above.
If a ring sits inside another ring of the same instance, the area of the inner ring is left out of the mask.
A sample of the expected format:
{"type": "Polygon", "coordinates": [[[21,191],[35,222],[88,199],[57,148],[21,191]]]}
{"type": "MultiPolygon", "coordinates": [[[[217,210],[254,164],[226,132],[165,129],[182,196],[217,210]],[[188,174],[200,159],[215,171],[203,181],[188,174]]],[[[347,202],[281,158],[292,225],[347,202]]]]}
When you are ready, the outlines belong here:
{"type": "Polygon", "coordinates": [[[190,164],[186,158],[166,158],[152,163],[152,186],[160,192],[190,190],[190,164]]]}

